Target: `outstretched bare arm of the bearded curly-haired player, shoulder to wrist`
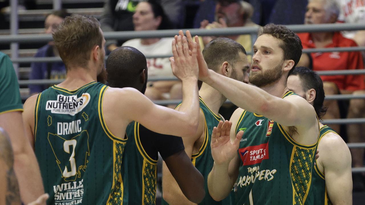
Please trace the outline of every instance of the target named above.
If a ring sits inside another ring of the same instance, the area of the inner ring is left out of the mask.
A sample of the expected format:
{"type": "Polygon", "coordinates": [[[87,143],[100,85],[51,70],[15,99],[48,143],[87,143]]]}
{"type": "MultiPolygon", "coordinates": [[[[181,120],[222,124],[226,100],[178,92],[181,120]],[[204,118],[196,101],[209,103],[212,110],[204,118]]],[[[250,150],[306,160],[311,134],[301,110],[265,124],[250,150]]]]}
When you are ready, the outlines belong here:
{"type": "Polygon", "coordinates": [[[222,76],[212,70],[208,72],[209,77],[204,82],[224,94],[240,108],[260,113],[284,126],[310,127],[317,123],[314,108],[304,98],[275,97],[261,88],[222,76]]]}

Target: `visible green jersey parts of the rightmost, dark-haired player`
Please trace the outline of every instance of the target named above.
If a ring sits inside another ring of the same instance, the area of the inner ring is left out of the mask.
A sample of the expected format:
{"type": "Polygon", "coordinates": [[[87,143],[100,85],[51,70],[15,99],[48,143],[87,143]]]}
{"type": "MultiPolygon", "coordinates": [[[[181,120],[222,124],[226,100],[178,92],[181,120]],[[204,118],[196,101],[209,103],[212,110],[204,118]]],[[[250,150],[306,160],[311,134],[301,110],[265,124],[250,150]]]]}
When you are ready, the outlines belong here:
{"type": "MultiPolygon", "coordinates": [[[[320,137],[318,140],[319,141],[323,138],[324,135],[333,132],[336,133],[333,129],[331,129],[330,127],[328,127],[327,125],[323,125],[323,127],[320,128],[320,137]]],[[[328,197],[327,194],[327,188],[326,188],[326,182],[324,181],[324,174],[319,171],[318,169],[318,164],[314,165],[314,170],[313,171],[313,176],[312,176],[312,189],[313,189],[313,196],[314,196],[314,200],[316,201],[316,204],[320,204],[320,205],[331,205],[331,200],[328,197]]]]}

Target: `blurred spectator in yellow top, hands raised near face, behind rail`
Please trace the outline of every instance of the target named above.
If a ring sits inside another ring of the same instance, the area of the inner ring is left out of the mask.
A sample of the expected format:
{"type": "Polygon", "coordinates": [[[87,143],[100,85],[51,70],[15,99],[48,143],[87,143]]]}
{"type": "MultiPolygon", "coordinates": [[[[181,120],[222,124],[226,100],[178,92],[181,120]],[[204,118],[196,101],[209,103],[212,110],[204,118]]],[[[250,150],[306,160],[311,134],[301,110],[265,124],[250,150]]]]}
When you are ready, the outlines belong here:
{"type": "MultiPolygon", "coordinates": [[[[203,20],[200,23],[200,28],[226,28],[226,27],[243,27],[243,26],[257,26],[257,24],[251,21],[253,14],[253,7],[242,0],[218,0],[215,6],[215,21],[209,23],[208,20],[203,20]]],[[[236,36],[224,36],[240,43],[247,52],[252,50],[251,35],[236,35],[236,36]]],[[[207,45],[216,36],[204,36],[200,42],[207,45]]],[[[251,59],[251,57],[248,57],[251,59]]],[[[250,61],[250,60],[249,60],[250,61]]]]}

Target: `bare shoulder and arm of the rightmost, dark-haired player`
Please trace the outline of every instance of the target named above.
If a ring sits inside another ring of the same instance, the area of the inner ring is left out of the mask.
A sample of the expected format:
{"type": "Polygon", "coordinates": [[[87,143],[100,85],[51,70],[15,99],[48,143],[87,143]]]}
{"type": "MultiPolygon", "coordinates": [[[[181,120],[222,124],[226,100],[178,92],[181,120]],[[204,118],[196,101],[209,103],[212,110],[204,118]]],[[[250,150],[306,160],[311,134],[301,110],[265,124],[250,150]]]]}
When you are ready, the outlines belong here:
{"type": "Polygon", "coordinates": [[[334,205],[352,204],[351,154],[342,138],[329,133],[319,142],[328,196],[334,205]]]}

